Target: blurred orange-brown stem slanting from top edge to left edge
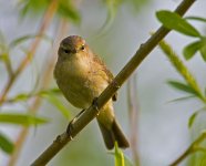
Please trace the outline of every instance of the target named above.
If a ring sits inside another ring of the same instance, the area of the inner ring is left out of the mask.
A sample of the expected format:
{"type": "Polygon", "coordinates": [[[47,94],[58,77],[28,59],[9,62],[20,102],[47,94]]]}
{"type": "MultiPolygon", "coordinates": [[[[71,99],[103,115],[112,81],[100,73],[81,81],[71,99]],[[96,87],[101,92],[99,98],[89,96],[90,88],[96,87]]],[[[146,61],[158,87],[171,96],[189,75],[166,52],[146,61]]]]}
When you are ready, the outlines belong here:
{"type": "Polygon", "coordinates": [[[7,97],[7,94],[8,92],[10,91],[10,89],[12,87],[13,83],[16,82],[17,77],[20,75],[20,73],[24,70],[24,68],[29,64],[29,62],[33,59],[35,52],[37,52],[37,49],[41,42],[41,38],[45,30],[48,29],[48,27],[50,25],[52,19],[53,19],[53,15],[55,13],[55,10],[58,8],[58,0],[53,0],[43,19],[42,19],[42,22],[41,22],[41,27],[39,29],[39,32],[38,32],[38,35],[37,38],[34,39],[34,41],[32,42],[31,44],[31,48],[28,52],[28,55],[25,55],[25,58],[21,61],[21,63],[19,64],[17,71],[14,71],[14,73],[12,74],[12,76],[9,77],[9,81],[8,83],[6,84],[6,87],[0,96],[0,105],[3,103],[3,101],[6,100],[7,97]]]}

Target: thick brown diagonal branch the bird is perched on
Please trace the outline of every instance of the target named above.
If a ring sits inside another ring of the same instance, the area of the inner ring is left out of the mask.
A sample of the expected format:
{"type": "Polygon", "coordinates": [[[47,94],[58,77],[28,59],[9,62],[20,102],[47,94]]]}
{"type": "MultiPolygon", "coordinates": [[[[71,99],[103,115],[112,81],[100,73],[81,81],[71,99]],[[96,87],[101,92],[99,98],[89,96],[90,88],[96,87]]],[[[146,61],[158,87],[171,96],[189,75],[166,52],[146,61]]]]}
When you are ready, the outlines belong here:
{"type": "MultiPolygon", "coordinates": [[[[183,0],[175,12],[177,12],[179,15],[183,15],[194,2],[195,0],[183,0]]],[[[102,94],[96,100],[99,110],[115,94],[115,92],[128,79],[134,70],[143,62],[148,53],[169,31],[171,30],[161,27],[154,33],[154,35],[152,35],[144,44],[140,46],[131,61],[123,68],[123,70],[116,75],[113,82],[102,92],[102,94]]],[[[56,139],[32,163],[32,166],[45,165],[49,163],[60,152],[60,149],[62,149],[66,143],[71,141],[71,137],[74,137],[78,133],[80,133],[94,117],[96,117],[97,114],[99,111],[96,110],[96,106],[91,105],[81,114],[79,118],[75,120],[75,122],[72,123],[70,135],[66,132],[59,135],[56,139]]]]}

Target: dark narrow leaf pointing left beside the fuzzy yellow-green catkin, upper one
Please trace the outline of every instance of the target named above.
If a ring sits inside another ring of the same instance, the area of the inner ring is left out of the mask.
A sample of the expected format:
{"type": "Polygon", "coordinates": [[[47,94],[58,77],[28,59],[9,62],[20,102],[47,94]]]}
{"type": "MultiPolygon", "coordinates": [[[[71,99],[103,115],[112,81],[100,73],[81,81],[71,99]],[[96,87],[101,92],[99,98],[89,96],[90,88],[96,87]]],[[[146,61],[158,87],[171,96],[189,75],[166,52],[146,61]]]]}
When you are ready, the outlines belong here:
{"type": "Polygon", "coordinates": [[[177,81],[168,81],[167,83],[176,90],[197,95],[196,91],[187,84],[177,81]]]}

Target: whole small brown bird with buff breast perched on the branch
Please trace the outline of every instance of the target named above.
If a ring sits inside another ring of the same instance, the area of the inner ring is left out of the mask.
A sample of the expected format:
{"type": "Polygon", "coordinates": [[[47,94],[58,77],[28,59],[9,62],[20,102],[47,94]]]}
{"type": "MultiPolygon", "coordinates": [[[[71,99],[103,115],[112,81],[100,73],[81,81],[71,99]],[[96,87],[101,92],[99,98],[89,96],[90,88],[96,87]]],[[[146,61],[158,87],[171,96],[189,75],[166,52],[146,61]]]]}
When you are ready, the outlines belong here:
{"type": "MultiPolygon", "coordinates": [[[[71,35],[62,40],[58,51],[54,76],[66,100],[79,108],[87,108],[93,100],[112,82],[113,75],[81,37],[71,35]]],[[[113,110],[114,95],[96,116],[105,145],[109,149],[130,146],[122,133],[113,110]]]]}

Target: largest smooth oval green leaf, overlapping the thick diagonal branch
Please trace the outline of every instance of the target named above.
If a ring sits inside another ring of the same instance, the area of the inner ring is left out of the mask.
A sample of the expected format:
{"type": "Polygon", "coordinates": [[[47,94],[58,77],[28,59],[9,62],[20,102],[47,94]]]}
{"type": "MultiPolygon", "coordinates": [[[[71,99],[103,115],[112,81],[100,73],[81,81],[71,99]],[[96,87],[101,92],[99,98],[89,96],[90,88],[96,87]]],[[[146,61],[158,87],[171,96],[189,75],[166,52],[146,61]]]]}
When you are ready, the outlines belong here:
{"type": "Polygon", "coordinates": [[[162,10],[156,12],[156,17],[167,29],[176,30],[190,37],[200,37],[199,32],[190,23],[175,12],[162,10]]]}

